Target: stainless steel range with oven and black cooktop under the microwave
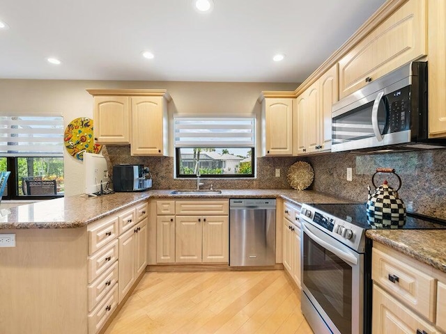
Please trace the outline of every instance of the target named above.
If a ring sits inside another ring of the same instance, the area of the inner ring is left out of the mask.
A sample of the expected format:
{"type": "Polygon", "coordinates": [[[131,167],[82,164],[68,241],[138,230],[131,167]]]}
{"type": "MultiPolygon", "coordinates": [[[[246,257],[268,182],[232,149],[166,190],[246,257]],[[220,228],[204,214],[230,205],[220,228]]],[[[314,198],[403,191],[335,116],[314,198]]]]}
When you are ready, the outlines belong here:
{"type": "MultiPolygon", "coordinates": [[[[365,204],[302,205],[302,313],[318,334],[371,333],[371,241],[365,204]]],[[[404,229],[446,228],[406,217],[404,229]]]]}

